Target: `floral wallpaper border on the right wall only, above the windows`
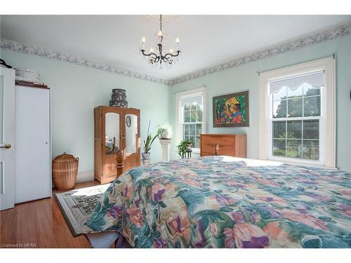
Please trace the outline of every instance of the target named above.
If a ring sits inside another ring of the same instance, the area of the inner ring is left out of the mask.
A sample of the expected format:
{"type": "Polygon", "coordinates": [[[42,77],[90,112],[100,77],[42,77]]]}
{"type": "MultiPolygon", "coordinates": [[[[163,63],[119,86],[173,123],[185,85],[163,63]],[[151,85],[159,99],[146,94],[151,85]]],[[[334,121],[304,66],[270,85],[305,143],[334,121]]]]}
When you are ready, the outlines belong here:
{"type": "Polygon", "coordinates": [[[312,34],[310,36],[305,36],[300,39],[282,43],[281,45],[273,46],[271,48],[267,48],[265,50],[261,50],[256,53],[252,53],[251,55],[246,55],[244,57],[237,58],[235,60],[221,63],[213,67],[207,67],[206,69],[201,69],[199,71],[185,74],[183,76],[178,76],[175,79],[168,80],[167,84],[169,86],[173,86],[184,81],[189,81],[190,79],[200,78],[201,76],[206,76],[211,73],[221,72],[225,69],[230,69],[232,67],[239,67],[249,62],[263,60],[265,58],[270,58],[274,55],[279,55],[279,54],[297,50],[300,48],[305,48],[307,46],[313,46],[318,43],[322,43],[332,39],[338,39],[339,37],[347,36],[350,33],[351,33],[351,23],[340,25],[338,27],[328,29],[324,32],[319,32],[317,34],[312,34]]]}

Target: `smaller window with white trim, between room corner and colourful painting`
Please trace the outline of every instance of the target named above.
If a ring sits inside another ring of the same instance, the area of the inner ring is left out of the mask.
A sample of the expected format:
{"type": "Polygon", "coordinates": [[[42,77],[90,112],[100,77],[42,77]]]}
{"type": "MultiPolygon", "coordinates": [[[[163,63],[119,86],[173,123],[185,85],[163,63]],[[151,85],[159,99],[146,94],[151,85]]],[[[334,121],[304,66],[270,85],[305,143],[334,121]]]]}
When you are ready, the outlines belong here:
{"type": "Polygon", "coordinates": [[[204,133],[204,87],[177,94],[178,141],[190,140],[199,152],[200,134],[204,133]]]}

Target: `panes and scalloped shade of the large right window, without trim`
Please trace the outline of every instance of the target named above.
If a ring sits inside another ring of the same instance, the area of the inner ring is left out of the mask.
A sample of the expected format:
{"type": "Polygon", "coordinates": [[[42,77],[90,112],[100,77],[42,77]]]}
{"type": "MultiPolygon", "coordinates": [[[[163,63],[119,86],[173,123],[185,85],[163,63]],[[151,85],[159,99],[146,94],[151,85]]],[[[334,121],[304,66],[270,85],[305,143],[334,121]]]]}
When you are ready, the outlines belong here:
{"type": "Polygon", "coordinates": [[[272,156],[319,161],[324,72],[269,81],[272,156]]]}

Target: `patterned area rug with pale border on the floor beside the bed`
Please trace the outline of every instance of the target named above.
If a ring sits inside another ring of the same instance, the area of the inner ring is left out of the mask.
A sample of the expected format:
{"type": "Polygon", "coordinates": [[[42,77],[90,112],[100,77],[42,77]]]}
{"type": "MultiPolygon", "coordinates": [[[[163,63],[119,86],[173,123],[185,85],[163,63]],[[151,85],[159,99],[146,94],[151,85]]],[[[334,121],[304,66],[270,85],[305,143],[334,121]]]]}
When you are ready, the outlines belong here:
{"type": "Polygon", "coordinates": [[[86,222],[109,186],[110,184],[102,184],[55,194],[55,199],[73,236],[93,232],[86,226],[86,222]]]}

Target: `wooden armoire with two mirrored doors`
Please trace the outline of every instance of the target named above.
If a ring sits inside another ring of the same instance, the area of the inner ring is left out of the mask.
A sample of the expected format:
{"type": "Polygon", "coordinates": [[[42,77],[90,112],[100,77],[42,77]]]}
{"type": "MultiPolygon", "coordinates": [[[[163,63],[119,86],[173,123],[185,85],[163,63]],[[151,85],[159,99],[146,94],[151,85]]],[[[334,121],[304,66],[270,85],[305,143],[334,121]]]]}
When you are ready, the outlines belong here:
{"type": "Polygon", "coordinates": [[[140,109],[99,106],[95,120],[95,179],[102,184],[117,178],[117,151],[123,170],[140,166],[140,109]]]}

